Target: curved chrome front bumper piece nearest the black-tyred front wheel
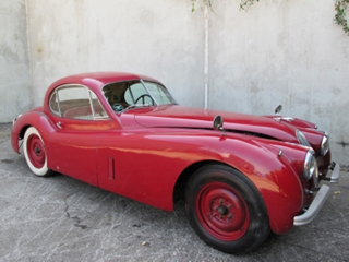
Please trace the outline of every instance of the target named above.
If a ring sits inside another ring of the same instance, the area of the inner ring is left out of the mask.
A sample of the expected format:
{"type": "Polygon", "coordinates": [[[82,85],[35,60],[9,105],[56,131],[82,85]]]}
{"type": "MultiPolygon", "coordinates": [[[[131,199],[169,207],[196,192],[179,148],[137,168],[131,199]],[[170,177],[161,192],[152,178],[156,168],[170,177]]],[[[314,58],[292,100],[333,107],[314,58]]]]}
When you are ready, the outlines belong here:
{"type": "Polygon", "coordinates": [[[293,217],[293,226],[303,226],[314,219],[323,204],[326,202],[328,195],[329,187],[326,184],[321,186],[308,211],[299,216],[293,217]]]}

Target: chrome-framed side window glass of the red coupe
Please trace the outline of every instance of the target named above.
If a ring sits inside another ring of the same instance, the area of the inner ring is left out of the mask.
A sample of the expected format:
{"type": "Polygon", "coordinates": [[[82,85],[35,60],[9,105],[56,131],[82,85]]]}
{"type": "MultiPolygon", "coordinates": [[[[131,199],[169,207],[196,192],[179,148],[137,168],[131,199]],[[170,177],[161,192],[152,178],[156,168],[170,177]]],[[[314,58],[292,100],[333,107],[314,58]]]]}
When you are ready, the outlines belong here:
{"type": "Polygon", "coordinates": [[[97,96],[83,86],[57,88],[49,106],[52,114],[63,118],[95,120],[108,117],[97,96]]]}

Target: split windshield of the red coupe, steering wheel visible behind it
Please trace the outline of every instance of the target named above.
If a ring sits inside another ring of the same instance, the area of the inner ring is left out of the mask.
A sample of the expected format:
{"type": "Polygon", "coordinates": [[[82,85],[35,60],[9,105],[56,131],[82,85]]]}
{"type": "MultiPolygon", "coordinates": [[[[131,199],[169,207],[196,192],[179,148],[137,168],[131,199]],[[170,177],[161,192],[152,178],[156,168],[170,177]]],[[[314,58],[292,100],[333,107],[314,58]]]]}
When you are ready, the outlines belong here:
{"type": "Polygon", "coordinates": [[[103,94],[116,112],[144,106],[177,104],[166,87],[148,81],[137,80],[108,84],[103,87],[103,94]]]}

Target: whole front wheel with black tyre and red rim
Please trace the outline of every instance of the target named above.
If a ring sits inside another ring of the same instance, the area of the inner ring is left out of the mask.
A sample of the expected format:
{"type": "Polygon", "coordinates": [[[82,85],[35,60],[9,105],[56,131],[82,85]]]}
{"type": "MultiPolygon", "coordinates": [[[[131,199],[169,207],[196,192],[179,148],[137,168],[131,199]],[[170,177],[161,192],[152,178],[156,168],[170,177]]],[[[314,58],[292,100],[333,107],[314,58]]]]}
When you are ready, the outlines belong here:
{"type": "Polygon", "coordinates": [[[191,177],[185,211],[196,234],[228,253],[256,249],[270,231],[255,186],[240,171],[222,165],[205,166],[191,177]]]}

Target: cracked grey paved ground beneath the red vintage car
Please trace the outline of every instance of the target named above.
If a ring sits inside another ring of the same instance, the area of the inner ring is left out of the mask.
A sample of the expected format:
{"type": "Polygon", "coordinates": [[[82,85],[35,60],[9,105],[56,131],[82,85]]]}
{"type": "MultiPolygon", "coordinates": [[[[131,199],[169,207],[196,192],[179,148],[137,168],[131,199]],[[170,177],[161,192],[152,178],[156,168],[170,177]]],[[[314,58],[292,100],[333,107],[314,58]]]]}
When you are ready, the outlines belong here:
{"type": "Polygon", "coordinates": [[[349,261],[349,172],[310,225],[231,255],[198,239],[182,203],[168,213],[63,175],[34,176],[10,130],[0,124],[0,261],[349,261]]]}

